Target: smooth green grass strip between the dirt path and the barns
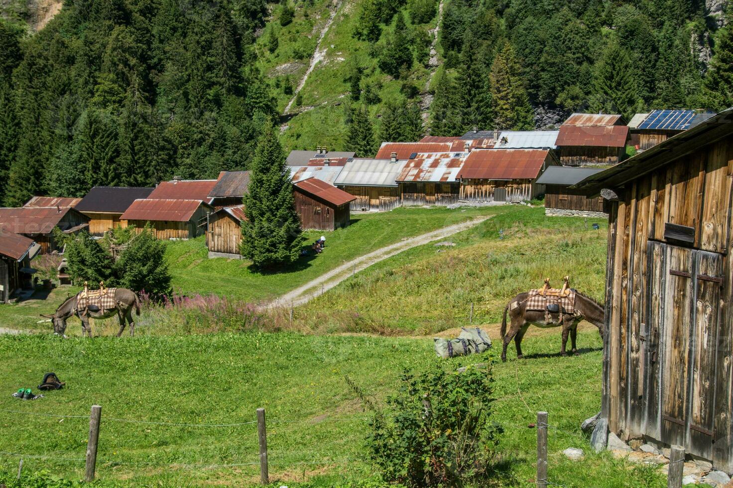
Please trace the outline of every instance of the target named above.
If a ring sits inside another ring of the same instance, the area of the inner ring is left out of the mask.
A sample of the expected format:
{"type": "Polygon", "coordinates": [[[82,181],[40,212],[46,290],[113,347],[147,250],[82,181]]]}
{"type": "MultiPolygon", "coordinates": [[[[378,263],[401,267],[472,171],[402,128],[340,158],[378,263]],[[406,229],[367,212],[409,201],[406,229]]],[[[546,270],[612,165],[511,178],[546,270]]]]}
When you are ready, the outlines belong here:
{"type": "Polygon", "coordinates": [[[193,295],[217,294],[242,300],[267,300],[297,288],[344,262],[362,256],[405,237],[467,221],[479,215],[506,210],[499,207],[449,210],[435,207],[397,208],[391,212],[353,214],[346,229],[335,232],[306,232],[307,243],[326,237],[322,254],[302,258],[292,270],[263,274],[239,259],[207,259],[203,237],[169,243],[166,250],[174,289],[193,295]]]}

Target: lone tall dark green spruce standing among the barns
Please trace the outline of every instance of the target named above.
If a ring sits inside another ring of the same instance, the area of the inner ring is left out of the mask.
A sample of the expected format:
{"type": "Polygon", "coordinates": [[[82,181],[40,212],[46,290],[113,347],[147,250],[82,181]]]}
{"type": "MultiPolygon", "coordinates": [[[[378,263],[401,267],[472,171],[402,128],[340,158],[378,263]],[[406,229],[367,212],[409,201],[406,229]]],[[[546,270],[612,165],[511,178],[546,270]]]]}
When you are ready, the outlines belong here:
{"type": "Polygon", "coordinates": [[[259,136],[249,171],[242,254],[259,270],[292,264],[301,254],[301,218],[295,211],[290,169],[271,120],[259,136]]]}

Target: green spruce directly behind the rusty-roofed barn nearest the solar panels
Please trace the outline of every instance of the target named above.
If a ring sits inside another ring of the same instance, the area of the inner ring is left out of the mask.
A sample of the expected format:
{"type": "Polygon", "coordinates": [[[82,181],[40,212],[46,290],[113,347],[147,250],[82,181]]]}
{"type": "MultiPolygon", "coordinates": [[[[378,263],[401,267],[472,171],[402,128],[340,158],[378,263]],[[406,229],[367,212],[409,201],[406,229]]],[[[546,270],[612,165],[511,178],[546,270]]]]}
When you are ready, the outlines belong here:
{"type": "Polygon", "coordinates": [[[611,42],[595,67],[594,111],[622,114],[630,119],[639,107],[636,80],[625,49],[611,42]]]}

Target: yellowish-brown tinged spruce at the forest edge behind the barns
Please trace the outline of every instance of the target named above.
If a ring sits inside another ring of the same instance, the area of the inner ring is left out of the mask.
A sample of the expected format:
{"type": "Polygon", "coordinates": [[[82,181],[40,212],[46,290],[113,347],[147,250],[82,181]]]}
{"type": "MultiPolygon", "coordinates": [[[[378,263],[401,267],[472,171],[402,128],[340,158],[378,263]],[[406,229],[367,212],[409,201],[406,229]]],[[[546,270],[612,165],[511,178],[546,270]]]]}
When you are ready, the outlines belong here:
{"type": "Polygon", "coordinates": [[[494,58],[489,77],[493,126],[497,129],[534,129],[532,107],[521,73],[514,49],[506,42],[494,58]]]}

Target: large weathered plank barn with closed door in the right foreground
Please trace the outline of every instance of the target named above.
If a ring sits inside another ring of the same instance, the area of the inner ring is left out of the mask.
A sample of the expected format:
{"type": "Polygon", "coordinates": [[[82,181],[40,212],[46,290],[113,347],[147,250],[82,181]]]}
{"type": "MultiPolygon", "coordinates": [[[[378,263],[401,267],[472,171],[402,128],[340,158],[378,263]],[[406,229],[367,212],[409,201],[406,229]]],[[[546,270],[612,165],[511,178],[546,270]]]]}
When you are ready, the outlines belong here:
{"type": "Polygon", "coordinates": [[[609,199],[602,414],[733,471],[733,109],[575,188],[609,199]]]}

